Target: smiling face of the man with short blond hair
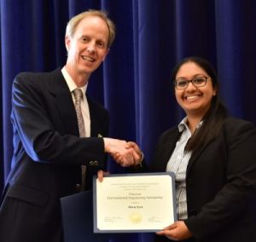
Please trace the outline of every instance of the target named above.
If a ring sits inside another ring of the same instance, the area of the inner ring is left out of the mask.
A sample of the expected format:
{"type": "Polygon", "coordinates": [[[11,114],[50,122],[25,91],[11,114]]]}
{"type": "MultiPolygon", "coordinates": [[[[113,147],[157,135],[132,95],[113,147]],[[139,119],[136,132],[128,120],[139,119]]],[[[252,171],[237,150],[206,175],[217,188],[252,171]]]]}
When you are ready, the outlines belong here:
{"type": "Polygon", "coordinates": [[[73,37],[65,39],[67,66],[74,75],[90,75],[108,54],[108,26],[97,16],[87,16],[79,22],[73,37]]]}

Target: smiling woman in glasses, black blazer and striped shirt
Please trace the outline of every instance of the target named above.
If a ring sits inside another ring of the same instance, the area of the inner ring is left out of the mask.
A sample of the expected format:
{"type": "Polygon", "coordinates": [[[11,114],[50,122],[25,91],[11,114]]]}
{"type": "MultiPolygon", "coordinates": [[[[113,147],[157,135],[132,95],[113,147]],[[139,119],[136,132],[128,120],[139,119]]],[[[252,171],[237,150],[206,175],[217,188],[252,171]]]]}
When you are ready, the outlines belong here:
{"type": "Polygon", "coordinates": [[[256,241],[256,130],[218,100],[212,66],[199,57],[174,71],[186,117],[160,135],[151,171],[174,171],[177,222],[154,241],[256,241]]]}

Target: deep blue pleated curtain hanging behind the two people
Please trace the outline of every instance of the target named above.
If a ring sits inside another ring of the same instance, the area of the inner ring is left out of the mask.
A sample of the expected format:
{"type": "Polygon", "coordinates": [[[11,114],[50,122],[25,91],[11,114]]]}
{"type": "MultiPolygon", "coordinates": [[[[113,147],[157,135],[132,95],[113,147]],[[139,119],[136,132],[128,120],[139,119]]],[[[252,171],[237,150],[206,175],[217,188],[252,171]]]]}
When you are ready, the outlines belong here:
{"type": "MultiPolygon", "coordinates": [[[[111,136],[137,141],[148,162],[160,133],[183,117],[170,77],[186,56],[210,60],[230,112],[256,124],[254,0],[1,0],[0,191],[12,155],[13,79],[63,66],[67,21],[86,9],[107,10],[117,26],[107,60],[90,78],[90,95],[108,108],[111,136]]],[[[109,170],[123,171],[114,163],[109,170]]],[[[150,238],[131,234],[119,241],[150,238]]]]}

